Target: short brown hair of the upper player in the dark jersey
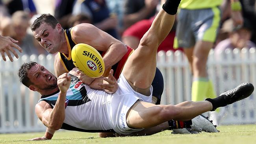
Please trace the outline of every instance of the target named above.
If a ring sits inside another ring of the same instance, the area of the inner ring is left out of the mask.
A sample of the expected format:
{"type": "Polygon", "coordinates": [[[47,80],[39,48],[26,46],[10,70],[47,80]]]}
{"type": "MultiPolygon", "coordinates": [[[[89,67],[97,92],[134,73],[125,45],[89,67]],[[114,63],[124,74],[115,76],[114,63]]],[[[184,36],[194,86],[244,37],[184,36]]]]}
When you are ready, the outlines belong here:
{"type": "Polygon", "coordinates": [[[52,28],[55,28],[56,25],[59,24],[58,20],[51,14],[42,14],[33,22],[30,29],[35,31],[35,29],[39,28],[39,26],[44,22],[52,26],[52,28]]]}

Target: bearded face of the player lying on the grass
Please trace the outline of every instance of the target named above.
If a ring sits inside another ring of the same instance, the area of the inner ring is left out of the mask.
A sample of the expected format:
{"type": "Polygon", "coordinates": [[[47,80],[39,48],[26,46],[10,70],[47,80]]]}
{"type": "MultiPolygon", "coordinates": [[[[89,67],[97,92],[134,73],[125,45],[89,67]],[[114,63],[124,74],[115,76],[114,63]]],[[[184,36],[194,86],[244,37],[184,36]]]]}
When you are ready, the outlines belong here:
{"type": "Polygon", "coordinates": [[[33,85],[40,90],[51,90],[58,87],[57,78],[38,63],[31,66],[28,70],[28,78],[33,85]]]}

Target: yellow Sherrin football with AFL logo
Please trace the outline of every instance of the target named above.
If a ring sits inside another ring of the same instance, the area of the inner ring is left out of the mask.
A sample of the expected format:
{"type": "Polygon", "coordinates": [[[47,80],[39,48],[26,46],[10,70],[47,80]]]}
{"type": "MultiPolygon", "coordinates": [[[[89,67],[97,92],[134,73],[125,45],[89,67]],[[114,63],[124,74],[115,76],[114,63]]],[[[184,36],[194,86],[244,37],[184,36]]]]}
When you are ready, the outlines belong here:
{"type": "Polygon", "coordinates": [[[76,68],[91,78],[99,78],[104,73],[102,56],[88,44],[76,44],[72,48],[71,57],[76,68]]]}

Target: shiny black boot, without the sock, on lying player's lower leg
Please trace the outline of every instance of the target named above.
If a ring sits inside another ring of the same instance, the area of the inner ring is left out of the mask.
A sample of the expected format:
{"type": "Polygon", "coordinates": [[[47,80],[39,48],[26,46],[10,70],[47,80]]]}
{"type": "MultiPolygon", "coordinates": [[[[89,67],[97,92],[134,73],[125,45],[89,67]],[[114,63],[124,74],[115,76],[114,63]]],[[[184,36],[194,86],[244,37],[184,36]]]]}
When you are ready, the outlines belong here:
{"type": "Polygon", "coordinates": [[[253,90],[254,87],[251,83],[241,83],[236,88],[221,93],[220,96],[224,96],[226,103],[229,105],[231,103],[247,98],[252,94],[253,90]]]}

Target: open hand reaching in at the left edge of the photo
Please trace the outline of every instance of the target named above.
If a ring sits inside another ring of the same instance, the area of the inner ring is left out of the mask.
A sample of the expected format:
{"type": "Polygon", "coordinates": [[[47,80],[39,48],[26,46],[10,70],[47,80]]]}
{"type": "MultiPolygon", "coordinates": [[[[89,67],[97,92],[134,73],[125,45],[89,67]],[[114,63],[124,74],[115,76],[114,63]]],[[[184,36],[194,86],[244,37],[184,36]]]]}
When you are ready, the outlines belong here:
{"type": "Polygon", "coordinates": [[[15,55],[15,57],[19,58],[19,55],[13,49],[13,48],[16,48],[17,50],[19,50],[19,52],[22,52],[22,49],[17,45],[17,43],[18,43],[18,41],[12,39],[11,37],[2,37],[0,35],[0,53],[1,53],[4,61],[6,61],[6,57],[5,57],[4,53],[7,54],[10,61],[12,61],[12,62],[13,62],[13,58],[11,57],[10,52],[12,52],[15,55]]]}

